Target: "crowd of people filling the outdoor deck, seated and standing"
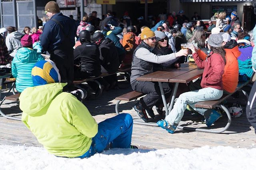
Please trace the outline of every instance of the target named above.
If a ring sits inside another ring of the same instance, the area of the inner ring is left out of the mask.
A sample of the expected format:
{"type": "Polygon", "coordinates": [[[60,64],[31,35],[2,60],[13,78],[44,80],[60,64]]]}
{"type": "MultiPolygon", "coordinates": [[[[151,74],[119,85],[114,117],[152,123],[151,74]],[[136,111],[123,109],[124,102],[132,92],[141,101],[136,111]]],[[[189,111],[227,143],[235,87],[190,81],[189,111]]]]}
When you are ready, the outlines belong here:
{"type": "MultiPolygon", "coordinates": [[[[192,58],[204,73],[201,79],[190,82],[171,113],[158,121],[158,126],[174,133],[186,109],[202,114],[202,122],[210,127],[222,116],[220,109],[198,109],[194,103],[234,93],[238,81],[247,81],[254,72],[253,32],[242,30],[235,11],[230,20],[226,12],[216,12],[212,17],[217,19],[215,25],[212,20],[204,24],[197,12],[190,21],[181,10],[154,26],[143,17],[133,26],[128,12],[118,20],[111,11],[104,20],[97,18],[97,12],[85,14],[78,25],[72,16],[64,16],[54,1],[46,4],[45,13],[49,20],[44,28],[25,27],[23,32],[13,26],[0,29],[0,64],[2,69],[11,67],[16,78],[22,121],[56,156],[84,158],[106,147],[136,148],[131,145],[132,117],[121,114],[97,124],[88,109],[69,93],[76,90],[74,79],[131,68],[132,89],[146,95],[133,109],[148,122],[148,116],[155,117],[153,107],[163,115],[160,87],[136,78],[168,67],[179,68],[188,61],[189,52],[181,45],[190,44],[192,58]],[[50,60],[42,56],[46,51],[50,60]]],[[[107,90],[118,89],[116,74],[100,82],[107,90]]],[[[162,86],[166,98],[170,97],[173,85],[162,86]]],[[[232,113],[234,117],[239,114],[232,113]]]]}

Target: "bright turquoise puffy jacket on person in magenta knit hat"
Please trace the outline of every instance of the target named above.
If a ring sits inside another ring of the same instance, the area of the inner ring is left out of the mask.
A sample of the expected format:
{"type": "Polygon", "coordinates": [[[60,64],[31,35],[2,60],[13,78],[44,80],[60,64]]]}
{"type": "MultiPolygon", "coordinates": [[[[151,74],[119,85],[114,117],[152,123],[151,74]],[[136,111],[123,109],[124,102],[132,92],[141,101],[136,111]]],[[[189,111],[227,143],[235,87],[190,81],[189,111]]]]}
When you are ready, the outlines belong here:
{"type": "Polygon", "coordinates": [[[32,48],[22,47],[18,49],[16,56],[12,60],[12,76],[16,78],[16,90],[22,92],[27,87],[32,87],[31,71],[37,61],[44,60],[32,48]]]}

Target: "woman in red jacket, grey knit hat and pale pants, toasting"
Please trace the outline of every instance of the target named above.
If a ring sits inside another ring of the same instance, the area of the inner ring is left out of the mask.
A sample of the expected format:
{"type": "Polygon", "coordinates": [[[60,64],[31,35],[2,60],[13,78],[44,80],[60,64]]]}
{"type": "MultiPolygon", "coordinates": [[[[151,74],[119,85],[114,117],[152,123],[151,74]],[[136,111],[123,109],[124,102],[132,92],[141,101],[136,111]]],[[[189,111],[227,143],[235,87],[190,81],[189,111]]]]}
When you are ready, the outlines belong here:
{"type": "Polygon", "coordinates": [[[222,115],[214,109],[195,108],[194,104],[199,101],[217,100],[222,97],[223,83],[222,75],[224,73],[224,65],[226,63],[226,52],[222,48],[223,38],[219,34],[212,34],[208,39],[208,48],[211,52],[202,60],[194,47],[190,48],[195,59],[195,63],[199,68],[204,68],[202,75],[202,89],[182,93],[176,101],[172,111],[165,120],[158,121],[159,127],[164,128],[169,133],[174,133],[176,127],[180,123],[186,105],[190,105],[195,111],[206,117],[206,125],[210,127],[222,115]]]}

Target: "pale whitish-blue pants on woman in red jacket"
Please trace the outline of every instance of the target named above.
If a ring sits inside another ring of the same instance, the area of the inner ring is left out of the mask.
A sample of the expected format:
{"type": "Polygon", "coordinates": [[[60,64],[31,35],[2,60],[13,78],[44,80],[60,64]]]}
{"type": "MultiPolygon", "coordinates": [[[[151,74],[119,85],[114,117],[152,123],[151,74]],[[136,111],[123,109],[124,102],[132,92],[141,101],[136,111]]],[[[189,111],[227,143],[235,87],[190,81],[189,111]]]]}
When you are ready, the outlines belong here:
{"type": "MultiPolygon", "coordinates": [[[[165,118],[165,120],[168,121],[171,125],[178,126],[184,115],[187,104],[190,105],[195,111],[198,111],[198,113],[201,115],[204,115],[204,112],[206,112],[208,109],[195,108],[195,103],[198,101],[217,100],[222,97],[222,94],[223,90],[214,89],[212,87],[206,87],[204,89],[182,93],[174,104],[172,111],[165,118]]],[[[204,116],[207,118],[207,115],[204,116]]]]}

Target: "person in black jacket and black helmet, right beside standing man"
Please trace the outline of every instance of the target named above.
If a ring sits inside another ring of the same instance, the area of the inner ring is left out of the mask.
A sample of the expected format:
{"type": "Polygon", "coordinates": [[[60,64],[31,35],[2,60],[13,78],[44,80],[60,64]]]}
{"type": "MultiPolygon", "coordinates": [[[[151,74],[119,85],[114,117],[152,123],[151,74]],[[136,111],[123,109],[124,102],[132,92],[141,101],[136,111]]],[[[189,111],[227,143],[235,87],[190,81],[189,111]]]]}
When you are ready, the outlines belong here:
{"type": "Polygon", "coordinates": [[[80,42],[74,49],[74,77],[86,79],[100,75],[100,51],[97,45],[91,43],[91,35],[87,30],[79,33],[80,42]]]}

